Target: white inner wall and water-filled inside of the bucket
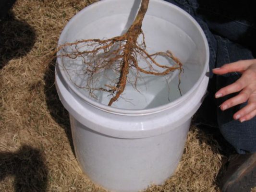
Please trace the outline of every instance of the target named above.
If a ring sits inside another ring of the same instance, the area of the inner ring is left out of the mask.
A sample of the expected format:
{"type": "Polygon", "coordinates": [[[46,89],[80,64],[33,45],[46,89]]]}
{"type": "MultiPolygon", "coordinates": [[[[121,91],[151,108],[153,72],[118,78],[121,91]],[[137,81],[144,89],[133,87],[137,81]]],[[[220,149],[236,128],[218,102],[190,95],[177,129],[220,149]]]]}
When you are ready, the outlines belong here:
{"type": "MultiPolygon", "coordinates": [[[[81,14],[78,19],[70,26],[70,29],[64,34],[66,42],[74,42],[78,39],[111,38],[123,34],[134,20],[138,6],[136,1],[114,2],[113,6],[108,5],[110,11],[104,11],[104,6],[95,6],[81,14]],[[125,2],[125,3],[123,3],[125,2]],[[117,8],[118,7],[118,8],[117,8]],[[132,10],[132,12],[131,12],[132,10]],[[88,17],[90,15],[90,17],[88,17]]],[[[111,1],[109,1],[111,4],[111,1]]],[[[179,20],[175,18],[177,12],[161,6],[152,1],[146,13],[143,22],[143,32],[146,38],[146,50],[149,53],[158,51],[167,51],[179,58],[183,63],[183,72],[179,78],[179,72],[175,71],[168,76],[154,76],[139,73],[130,70],[128,82],[122,96],[112,107],[123,109],[148,109],[168,104],[182,95],[185,95],[193,85],[198,81],[204,70],[206,60],[205,47],[198,29],[193,27],[188,18],[180,16],[179,20]],[[161,17],[159,17],[161,11],[161,17]],[[187,25],[185,25],[188,23],[187,25]],[[192,30],[192,31],[191,31],[192,30]],[[193,30],[195,30],[193,32],[193,30]],[[190,34],[190,35],[188,35],[190,34]],[[191,35],[192,34],[192,35],[191,35]],[[134,88],[135,76],[137,76],[136,88],[134,88]],[[179,80],[181,81],[180,86],[179,80]]],[[[141,38],[141,37],[140,37],[141,38]]],[[[140,41],[140,40],[139,40],[140,41]]],[[[65,43],[65,42],[63,42],[65,43]]],[[[156,60],[161,64],[172,64],[170,60],[158,57],[156,60]]],[[[63,58],[65,70],[72,81],[80,87],[85,87],[86,76],[83,71],[83,62],[80,59],[70,60],[63,58]],[[82,72],[77,75],[78,71],[82,72]]],[[[140,66],[145,66],[143,61],[139,60],[140,66]]],[[[94,86],[103,86],[108,84],[111,79],[118,78],[117,74],[110,70],[99,74],[99,79],[94,86]]],[[[90,97],[88,90],[74,86],[84,96],[90,97]]],[[[112,97],[108,92],[95,91],[98,102],[107,105],[112,97]]]]}

